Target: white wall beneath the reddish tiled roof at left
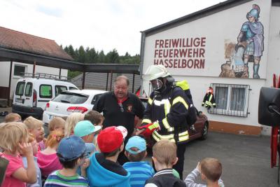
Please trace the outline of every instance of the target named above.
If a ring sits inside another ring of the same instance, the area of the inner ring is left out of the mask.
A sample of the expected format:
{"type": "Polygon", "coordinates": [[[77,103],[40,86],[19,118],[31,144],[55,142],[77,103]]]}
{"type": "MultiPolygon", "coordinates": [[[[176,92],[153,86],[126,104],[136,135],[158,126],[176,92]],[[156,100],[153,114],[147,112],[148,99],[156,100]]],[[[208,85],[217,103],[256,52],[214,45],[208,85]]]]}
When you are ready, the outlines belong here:
{"type": "MultiPolygon", "coordinates": [[[[8,87],[9,76],[10,76],[10,62],[0,62],[0,63],[1,63],[0,86],[8,87]]],[[[13,62],[12,79],[10,82],[10,99],[13,98],[13,90],[15,89],[15,84],[17,83],[18,79],[21,78],[20,76],[14,76],[14,74],[13,74],[15,65],[25,66],[25,73],[29,73],[29,74],[33,73],[33,64],[13,62]]],[[[43,66],[36,65],[35,74],[36,73],[59,75],[59,68],[43,67],[43,66]]],[[[68,73],[67,69],[62,69],[62,71],[61,71],[62,76],[67,76],[67,73],[68,73]]]]}

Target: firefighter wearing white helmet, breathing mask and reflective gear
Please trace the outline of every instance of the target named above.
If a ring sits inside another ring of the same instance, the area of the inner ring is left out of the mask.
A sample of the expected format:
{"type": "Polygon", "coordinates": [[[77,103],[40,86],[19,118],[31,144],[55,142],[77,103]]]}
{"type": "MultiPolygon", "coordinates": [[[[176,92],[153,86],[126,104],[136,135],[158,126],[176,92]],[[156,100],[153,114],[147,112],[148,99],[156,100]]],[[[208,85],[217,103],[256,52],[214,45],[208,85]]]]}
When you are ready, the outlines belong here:
{"type": "Polygon", "coordinates": [[[169,139],[176,142],[179,161],[174,169],[182,179],[186,141],[189,139],[186,123],[188,99],[164,66],[151,65],[146,74],[150,77],[153,92],[148,98],[139,134],[151,134],[155,141],[169,139]]]}

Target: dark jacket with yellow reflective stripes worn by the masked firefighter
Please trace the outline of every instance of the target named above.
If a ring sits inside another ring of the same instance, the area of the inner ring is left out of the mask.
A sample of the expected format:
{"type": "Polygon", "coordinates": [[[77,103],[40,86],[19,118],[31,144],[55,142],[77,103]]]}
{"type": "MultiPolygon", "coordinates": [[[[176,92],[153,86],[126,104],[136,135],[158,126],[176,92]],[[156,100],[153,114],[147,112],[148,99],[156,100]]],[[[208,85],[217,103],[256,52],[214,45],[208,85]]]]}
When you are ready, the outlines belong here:
{"type": "Polygon", "coordinates": [[[142,123],[146,125],[158,120],[160,130],[152,134],[155,141],[169,139],[178,144],[188,141],[186,113],[189,105],[186,101],[186,94],[179,87],[167,87],[160,95],[151,93],[142,123]]]}

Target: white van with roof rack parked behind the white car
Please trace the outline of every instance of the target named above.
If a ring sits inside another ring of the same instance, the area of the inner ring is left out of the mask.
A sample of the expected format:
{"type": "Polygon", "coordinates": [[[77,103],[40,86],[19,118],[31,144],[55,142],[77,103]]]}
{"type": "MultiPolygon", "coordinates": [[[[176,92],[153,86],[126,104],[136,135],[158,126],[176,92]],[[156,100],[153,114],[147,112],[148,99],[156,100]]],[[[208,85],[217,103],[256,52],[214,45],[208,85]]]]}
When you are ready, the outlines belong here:
{"type": "Polygon", "coordinates": [[[66,81],[20,78],[15,85],[12,111],[20,114],[22,118],[33,116],[41,119],[45,104],[65,90],[78,90],[78,88],[66,81]]]}

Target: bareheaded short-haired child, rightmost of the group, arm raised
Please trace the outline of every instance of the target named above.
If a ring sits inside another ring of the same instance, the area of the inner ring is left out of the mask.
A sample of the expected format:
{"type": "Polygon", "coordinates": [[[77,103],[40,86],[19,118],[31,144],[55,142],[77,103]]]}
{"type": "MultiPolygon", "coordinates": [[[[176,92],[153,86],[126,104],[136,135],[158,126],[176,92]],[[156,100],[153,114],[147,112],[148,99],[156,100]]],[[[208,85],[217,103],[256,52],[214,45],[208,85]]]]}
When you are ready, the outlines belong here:
{"type": "Polygon", "coordinates": [[[225,185],[222,179],[220,179],[221,174],[222,164],[218,159],[204,158],[201,162],[198,162],[197,167],[188,174],[185,183],[188,187],[223,187],[225,185]],[[202,181],[206,181],[207,185],[195,183],[200,174],[202,181]]]}

